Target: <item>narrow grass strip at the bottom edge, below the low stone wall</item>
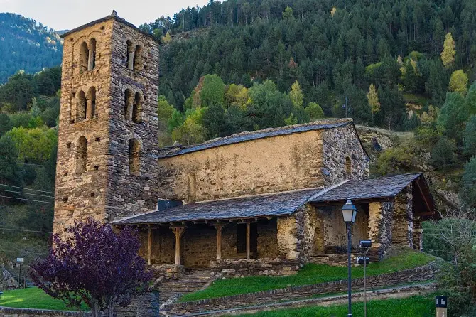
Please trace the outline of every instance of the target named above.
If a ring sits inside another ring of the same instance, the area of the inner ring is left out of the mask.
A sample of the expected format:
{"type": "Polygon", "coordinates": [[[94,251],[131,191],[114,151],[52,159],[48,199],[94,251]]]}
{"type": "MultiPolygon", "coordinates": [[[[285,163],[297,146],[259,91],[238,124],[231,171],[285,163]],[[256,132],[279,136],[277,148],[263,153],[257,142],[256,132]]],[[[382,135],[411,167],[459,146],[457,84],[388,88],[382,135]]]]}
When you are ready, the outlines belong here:
{"type": "MultiPolygon", "coordinates": [[[[435,316],[435,304],[433,296],[411,296],[406,299],[386,299],[379,301],[369,301],[367,303],[367,316],[379,317],[431,317],[435,316]]],[[[277,311],[264,311],[251,315],[240,315],[241,317],[298,317],[298,316],[319,316],[335,317],[347,316],[347,305],[329,307],[304,307],[283,309],[277,311]]],[[[352,316],[364,316],[364,303],[352,303],[352,316]]]]}

